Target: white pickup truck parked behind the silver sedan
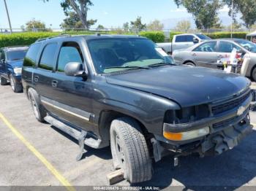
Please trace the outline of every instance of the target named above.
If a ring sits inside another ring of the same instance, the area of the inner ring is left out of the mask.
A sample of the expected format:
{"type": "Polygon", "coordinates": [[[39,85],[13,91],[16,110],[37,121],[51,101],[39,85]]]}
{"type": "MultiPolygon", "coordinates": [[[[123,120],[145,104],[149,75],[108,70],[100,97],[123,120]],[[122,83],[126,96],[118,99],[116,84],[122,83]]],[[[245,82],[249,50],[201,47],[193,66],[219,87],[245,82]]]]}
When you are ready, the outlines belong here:
{"type": "Polygon", "coordinates": [[[174,50],[186,49],[210,39],[210,37],[204,34],[178,34],[173,36],[173,41],[171,43],[157,43],[157,45],[162,47],[162,49],[169,55],[172,55],[174,50]]]}

